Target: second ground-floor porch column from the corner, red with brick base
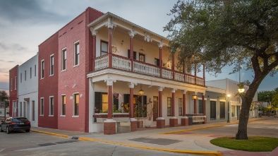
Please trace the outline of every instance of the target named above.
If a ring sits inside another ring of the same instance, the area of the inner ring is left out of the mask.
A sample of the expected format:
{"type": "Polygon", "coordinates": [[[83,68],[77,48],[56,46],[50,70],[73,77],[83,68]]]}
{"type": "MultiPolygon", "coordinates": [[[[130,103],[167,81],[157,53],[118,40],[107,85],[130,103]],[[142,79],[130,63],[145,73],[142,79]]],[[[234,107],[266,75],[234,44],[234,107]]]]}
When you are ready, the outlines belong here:
{"type": "Polygon", "coordinates": [[[128,83],[129,88],[129,115],[131,121],[131,131],[137,131],[137,120],[134,118],[134,110],[133,110],[133,88],[137,83],[128,83]]]}

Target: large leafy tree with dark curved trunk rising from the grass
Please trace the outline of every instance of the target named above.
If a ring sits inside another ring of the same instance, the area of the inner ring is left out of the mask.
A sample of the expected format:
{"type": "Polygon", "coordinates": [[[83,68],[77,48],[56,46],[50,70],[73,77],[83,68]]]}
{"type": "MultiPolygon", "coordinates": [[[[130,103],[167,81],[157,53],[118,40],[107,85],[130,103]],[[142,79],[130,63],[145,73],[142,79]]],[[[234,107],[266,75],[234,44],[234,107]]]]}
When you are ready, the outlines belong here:
{"type": "Polygon", "coordinates": [[[248,139],[250,104],[262,80],[278,71],[278,1],[179,0],[171,9],[169,49],[179,64],[198,61],[209,73],[224,66],[253,71],[249,89],[239,94],[241,114],[236,139],[248,139]]]}

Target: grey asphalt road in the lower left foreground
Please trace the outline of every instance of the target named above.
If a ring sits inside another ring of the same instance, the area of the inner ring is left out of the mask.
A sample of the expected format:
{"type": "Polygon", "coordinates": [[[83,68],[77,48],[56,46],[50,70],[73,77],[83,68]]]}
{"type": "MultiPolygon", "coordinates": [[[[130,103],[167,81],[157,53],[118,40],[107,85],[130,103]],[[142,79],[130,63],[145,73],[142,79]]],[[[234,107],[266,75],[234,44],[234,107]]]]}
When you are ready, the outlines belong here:
{"type": "MultiPolygon", "coordinates": [[[[2,156],[44,156],[44,155],[175,155],[182,154],[128,148],[121,145],[88,142],[49,136],[42,133],[14,132],[0,133],[0,155],[2,156]]],[[[189,155],[188,155],[189,156],[189,155]]]]}

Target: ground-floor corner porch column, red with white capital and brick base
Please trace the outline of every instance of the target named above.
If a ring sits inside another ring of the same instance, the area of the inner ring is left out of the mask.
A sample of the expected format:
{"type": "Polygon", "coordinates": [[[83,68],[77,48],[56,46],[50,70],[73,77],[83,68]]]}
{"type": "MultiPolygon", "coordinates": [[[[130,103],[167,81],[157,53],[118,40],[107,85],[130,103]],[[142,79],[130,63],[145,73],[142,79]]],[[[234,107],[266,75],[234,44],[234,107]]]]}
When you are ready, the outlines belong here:
{"type": "Polygon", "coordinates": [[[111,78],[104,80],[104,82],[107,83],[108,87],[108,110],[107,110],[107,119],[104,121],[104,134],[115,134],[116,133],[116,121],[112,119],[112,109],[113,109],[113,93],[112,93],[112,87],[113,83],[116,82],[116,80],[113,80],[111,78]]]}

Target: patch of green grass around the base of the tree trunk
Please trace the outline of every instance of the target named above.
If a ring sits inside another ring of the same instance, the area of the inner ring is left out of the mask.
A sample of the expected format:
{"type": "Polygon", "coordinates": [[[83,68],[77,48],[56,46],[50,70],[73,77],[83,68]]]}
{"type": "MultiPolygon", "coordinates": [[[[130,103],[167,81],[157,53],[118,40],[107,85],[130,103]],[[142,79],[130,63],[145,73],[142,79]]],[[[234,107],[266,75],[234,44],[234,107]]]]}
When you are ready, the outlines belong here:
{"type": "Polygon", "coordinates": [[[210,143],[222,148],[250,152],[270,152],[278,146],[278,138],[251,136],[248,140],[235,140],[231,137],[214,138],[210,143]]]}

